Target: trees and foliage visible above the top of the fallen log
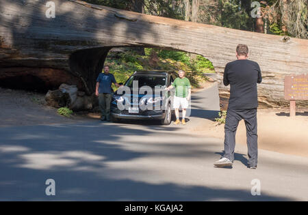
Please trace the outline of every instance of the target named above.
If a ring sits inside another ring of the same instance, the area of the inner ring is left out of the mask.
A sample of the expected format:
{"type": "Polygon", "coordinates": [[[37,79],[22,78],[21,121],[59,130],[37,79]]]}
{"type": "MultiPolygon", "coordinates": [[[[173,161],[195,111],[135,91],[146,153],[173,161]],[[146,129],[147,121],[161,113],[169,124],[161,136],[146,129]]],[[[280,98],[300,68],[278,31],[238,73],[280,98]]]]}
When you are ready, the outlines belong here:
{"type": "MultiPolygon", "coordinates": [[[[136,5],[144,5],[144,13],[168,18],[185,19],[183,0],[85,0],[89,3],[105,5],[122,10],[135,10],[136,5]]],[[[201,1],[198,22],[255,31],[256,18],[251,17],[251,3],[255,0],[207,0],[201,1]]],[[[270,13],[268,23],[270,32],[277,35],[292,35],[296,38],[307,38],[308,7],[307,0],[267,0],[259,1],[261,8],[270,13]],[[269,18],[271,17],[271,18],[269,18]],[[279,24],[283,23],[283,25],[279,24]],[[287,33],[281,27],[287,27],[287,33]]],[[[190,0],[190,14],[192,1],[190,0]]],[[[136,10],[135,10],[136,11],[136,10]]],[[[264,16],[267,17],[267,16],[264,16]]]]}

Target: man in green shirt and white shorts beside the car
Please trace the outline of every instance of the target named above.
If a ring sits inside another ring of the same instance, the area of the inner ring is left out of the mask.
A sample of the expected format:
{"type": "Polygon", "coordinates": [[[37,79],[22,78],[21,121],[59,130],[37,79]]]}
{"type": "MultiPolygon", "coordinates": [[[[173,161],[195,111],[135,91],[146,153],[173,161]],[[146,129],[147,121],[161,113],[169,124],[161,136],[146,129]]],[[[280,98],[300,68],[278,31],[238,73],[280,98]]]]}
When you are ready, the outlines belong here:
{"type": "Polygon", "coordinates": [[[166,87],[166,90],[170,90],[175,87],[175,98],[173,100],[173,107],[175,108],[175,116],[177,120],[175,124],[179,124],[179,107],[182,108],[182,124],[185,125],[185,115],[186,109],[188,108],[188,101],[190,100],[190,96],[192,94],[190,81],[185,77],[185,72],[183,70],[179,70],[179,77],[175,78],[175,81],[169,87],[166,87]]]}

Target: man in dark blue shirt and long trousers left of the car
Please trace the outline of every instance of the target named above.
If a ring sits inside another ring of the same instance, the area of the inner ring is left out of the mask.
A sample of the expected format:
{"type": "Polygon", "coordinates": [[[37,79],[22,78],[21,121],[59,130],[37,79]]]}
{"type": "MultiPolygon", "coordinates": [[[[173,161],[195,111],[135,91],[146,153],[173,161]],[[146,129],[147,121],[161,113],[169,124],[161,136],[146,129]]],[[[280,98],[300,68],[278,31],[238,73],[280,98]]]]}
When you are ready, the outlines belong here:
{"type": "Polygon", "coordinates": [[[110,121],[110,102],[113,93],[112,83],[114,83],[116,87],[120,87],[120,85],[116,83],[114,75],[110,74],[109,71],[109,66],[105,66],[104,72],[99,74],[95,91],[95,95],[99,96],[99,109],[101,109],[102,121],[110,121]]]}

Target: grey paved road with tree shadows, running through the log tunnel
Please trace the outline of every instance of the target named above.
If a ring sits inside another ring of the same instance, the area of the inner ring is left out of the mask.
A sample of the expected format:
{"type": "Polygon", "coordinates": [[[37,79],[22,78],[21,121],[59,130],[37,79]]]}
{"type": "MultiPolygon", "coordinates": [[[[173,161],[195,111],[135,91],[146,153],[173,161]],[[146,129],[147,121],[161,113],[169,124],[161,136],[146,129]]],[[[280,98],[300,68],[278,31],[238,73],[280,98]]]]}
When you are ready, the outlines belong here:
{"type": "Polygon", "coordinates": [[[188,126],[216,117],[216,86],[192,96],[187,126],[76,124],[0,128],[0,200],[285,201],[308,200],[308,159],[259,150],[246,167],[237,145],[232,169],[218,169],[222,140],[188,126]],[[45,181],[55,180],[55,196],[45,181]],[[261,195],[251,195],[259,180],[261,195]]]}

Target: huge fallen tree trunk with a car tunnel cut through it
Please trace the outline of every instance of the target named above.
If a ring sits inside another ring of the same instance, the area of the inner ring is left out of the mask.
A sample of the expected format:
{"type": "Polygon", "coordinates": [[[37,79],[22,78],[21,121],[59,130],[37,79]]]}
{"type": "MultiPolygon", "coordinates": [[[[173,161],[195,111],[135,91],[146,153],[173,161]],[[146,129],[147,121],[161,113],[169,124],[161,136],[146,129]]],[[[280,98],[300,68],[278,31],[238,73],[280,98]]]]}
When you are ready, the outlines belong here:
{"type": "Polygon", "coordinates": [[[76,78],[71,84],[82,83],[90,95],[110,48],[168,48],[207,57],[216,70],[223,99],[229,96],[229,87],[222,85],[224,66],[235,59],[235,47],[243,43],[250,48],[250,59],[261,67],[261,106],[287,106],[284,76],[308,72],[308,40],[149,16],[84,1],[53,2],[55,18],[47,18],[46,1],[0,1],[0,78],[10,68],[12,72],[18,68],[60,70],[76,78]]]}

